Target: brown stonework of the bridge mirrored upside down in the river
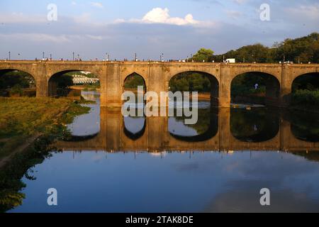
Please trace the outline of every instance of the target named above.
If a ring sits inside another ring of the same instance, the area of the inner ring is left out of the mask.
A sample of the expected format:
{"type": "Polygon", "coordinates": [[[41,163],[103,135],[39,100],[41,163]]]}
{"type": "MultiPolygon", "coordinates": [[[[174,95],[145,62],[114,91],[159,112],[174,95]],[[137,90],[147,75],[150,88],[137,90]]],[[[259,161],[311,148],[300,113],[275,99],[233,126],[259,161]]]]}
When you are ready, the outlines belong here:
{"type": "MultiPolygon", "coordinates": [[[[217,122],[216,122],[217,123],[217,122]]],[[[83,140],[58,141],[60,150],[104,150],[116,151],[208,151],[208,150],[283,150],[283,151],[319,151],[319,143],[298,140],[291,132],[291,123],[281,119],[279,132],[274,138],[249,143],[237,140],[230,132],[230,109],[219,109],[218,131],[205,140],[187,142],[169,133],[167,117],[146,118],[143,133],[130,138],[125,133],[121,109],[101,109],[101,131],[83,140]]],[[[209,134],[209,133],[208,133],[209,134]]]]}

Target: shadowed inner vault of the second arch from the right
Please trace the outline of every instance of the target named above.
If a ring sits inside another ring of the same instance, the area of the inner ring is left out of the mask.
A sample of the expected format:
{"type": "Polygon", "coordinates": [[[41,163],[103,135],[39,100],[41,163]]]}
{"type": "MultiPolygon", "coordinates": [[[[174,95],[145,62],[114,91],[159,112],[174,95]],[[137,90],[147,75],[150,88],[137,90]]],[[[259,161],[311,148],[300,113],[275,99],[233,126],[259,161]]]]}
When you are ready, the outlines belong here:
{"type": "MultiPolygon", "coordinates": [[[[235,83],[235,79],[244,75],[244,74],[251,74],[249,77],[259,77],[265,79],[265,87],[266,87],[266,99],[265,104],[270,106],[278,106],[280,104],[280,95],[281,95],[281,84],[280,80],[274,75],[269,72],[263,71],[242,71],[239,74],[235,74],[230,82],[230,96],[233,97],[232,88],[235,83]]],[[[250,102],[250,100],[248,100],[250,102]]]]}

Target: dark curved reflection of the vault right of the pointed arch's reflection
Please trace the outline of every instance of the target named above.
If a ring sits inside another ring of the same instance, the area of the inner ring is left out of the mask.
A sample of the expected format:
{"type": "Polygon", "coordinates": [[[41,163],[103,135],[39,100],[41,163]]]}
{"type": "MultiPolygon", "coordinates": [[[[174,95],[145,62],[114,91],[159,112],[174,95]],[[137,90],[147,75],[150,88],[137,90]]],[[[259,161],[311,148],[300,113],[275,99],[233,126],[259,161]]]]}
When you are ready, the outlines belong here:
{"type": "Polygon", "coordinates": [[[185,142],[203,142],[206,140],[210,140],[218,133],[218,109],[211,109],[209,113],[209,126],[205,133],[201,135],[193,135],[193,136],[185,136],[185,135],[177,135],[175,133],[169,132],[173,138],[177,140],[185,141],[185,142]]]}

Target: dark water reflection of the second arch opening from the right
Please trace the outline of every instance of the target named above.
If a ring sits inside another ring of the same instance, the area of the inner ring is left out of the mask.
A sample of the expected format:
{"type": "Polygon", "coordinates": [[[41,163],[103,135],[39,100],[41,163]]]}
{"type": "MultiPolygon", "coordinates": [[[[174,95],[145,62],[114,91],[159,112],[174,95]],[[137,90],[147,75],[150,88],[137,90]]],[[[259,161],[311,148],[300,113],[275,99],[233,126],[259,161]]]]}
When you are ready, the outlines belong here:
{"type": "Polygon", "coordinates": [[[231,109],[230,111],[230,133],[234,138],[242,142],[266,142],[275,138],[276,135],[278,135],[279,130],[280,116],[276,114],[276,111],[272,112],[268,109],[253,109],[252,111],[247,111],[245,109],[231,109]],[[264,128],[262,128],[262,131],[258,132],[258,123],[261,122],[261,120],[264,120],[262,121],[264,122],[264,128]],[[240,122],[240,126],[235,125],[236,121],[240,122]],[[254,121],[256,121],[256,124],[254,124],[254,121]],[[252,124],[254,124],[256,128],[252,127],[252,124]],[[247,126],[249,127],[248,129],[247,126]],[[236,133],[234,132],[234,127],[236,127],[236,133]]]}

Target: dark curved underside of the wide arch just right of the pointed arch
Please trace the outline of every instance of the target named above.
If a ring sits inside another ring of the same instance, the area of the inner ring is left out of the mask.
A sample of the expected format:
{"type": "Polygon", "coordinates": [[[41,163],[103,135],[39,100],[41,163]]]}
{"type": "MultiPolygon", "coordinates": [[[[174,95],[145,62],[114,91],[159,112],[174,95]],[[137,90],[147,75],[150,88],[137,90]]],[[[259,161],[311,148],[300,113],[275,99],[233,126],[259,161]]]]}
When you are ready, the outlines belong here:
{"type": "Polygon", "coordinates": [[[178,72],[177,74],[174,74],[173,76],[169,77],[169,81],[167,86],[169,87],[169,83],[172,81],[172,79],[174,79],[174,77],[178,77],[181,74],[187,74],[187,76],[189,76],[189,74],[201,74],[203,76],[206,76],[206,78],[209,79],[210,83],[211,83],[211,103],[213,106],[218,106],[218,99],[219,99],[219,81],[217,79],[216,76],[214,76],[213,74],[210,74],[208,72],[203,72],[203,71],[181,71],[178,72]]]}

